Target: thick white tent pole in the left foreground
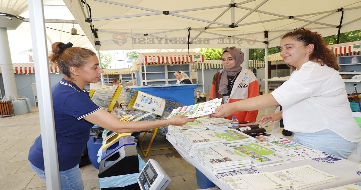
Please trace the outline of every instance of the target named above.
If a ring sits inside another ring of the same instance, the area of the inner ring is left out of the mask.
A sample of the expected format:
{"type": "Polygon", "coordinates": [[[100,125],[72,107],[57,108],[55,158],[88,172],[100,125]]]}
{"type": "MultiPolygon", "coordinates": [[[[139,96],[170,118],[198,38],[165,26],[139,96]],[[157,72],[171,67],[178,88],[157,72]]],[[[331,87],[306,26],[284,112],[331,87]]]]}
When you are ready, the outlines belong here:
{"type": "Polygon", "coordinates": [[[39,121],[47,189],[60,189],[58,152],[55,135],[54,110],[48,67],[48,49],[42,0],[28,0],[32,47],[34,52],[36,92],[39,98],[39,121]],[[40,75],[40,73],[42,73],[40,75]]]}

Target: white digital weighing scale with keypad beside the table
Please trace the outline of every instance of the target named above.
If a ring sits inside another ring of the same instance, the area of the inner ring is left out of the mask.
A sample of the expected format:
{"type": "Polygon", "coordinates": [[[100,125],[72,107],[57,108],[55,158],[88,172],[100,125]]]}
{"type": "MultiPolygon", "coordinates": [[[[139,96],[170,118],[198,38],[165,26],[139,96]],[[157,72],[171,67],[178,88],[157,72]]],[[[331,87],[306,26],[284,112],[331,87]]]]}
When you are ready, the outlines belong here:
{"type": "Polygon", "coordinates": [[[163,168],[153,159],[148,160],[137,180],[141,190],[165,190],[171,182],[163,168]]]}

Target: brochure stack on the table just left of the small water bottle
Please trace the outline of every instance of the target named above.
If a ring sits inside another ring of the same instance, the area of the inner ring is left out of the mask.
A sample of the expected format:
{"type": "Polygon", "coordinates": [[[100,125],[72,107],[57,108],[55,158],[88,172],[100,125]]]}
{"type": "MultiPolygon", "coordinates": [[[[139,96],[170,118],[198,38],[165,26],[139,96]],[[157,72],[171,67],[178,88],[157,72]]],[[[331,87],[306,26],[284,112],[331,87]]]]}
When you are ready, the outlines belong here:
{"type": "Polygon", "coordinates": [[[197,118],[195,121],[203,126],[206,126],[210,131],[227,130],[229,127],[232,127],[232,120],[225,118],[203,117],[197,118]]]}

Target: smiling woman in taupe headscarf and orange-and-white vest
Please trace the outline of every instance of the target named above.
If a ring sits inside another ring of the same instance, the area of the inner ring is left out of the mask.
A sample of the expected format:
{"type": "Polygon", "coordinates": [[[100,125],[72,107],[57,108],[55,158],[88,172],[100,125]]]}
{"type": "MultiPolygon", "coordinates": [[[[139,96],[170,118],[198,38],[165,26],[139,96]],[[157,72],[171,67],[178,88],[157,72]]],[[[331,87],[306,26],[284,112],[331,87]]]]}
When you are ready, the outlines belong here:
{"type": "MultiPolygon", "coordinates": [[[[222,103],[231,103],[260,95],[258,81],[252,71],[242,68],[244,54],[236,47],[223,48],[221,55],[225,68],[213,76],[209,100],[223,98],[222,103]]],[[[255,122],[258,110],[236,111],[227,119],[236,116],[239,122],[255,122]]]]}

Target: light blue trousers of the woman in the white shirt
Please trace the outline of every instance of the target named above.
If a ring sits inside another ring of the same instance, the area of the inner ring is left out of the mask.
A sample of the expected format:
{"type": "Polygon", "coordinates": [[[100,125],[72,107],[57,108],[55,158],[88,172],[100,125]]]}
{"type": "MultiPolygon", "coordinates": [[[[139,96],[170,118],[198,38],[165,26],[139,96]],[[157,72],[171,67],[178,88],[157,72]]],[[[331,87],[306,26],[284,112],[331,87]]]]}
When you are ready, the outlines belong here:
{"type": "Polygon", "coordinates": [[[357,142],[349,142],[335,132],[326,129],[315,133],[295,132],[293,142],[347,159],[357,147],[357,142]]]}

